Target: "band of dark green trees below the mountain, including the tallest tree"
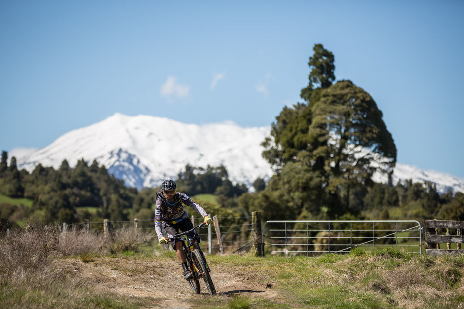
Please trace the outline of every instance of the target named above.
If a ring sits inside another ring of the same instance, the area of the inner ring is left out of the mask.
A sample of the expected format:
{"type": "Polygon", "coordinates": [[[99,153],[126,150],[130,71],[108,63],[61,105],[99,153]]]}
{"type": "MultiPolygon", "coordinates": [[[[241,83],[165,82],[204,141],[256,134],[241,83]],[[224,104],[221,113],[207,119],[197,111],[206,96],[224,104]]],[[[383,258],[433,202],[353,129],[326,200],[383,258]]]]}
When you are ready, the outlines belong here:
{"type": "MultiPolygon", "coordinates": [[[[234,184],[224,166],[186,165],[175,179],[178,191],[214,194],[217,202],[205,207],[213,215],[261,211],[264,220],[464,220],[463,193],[438,193],[433,183],[372,180],[375,173],[391,180],[396,163],[382,112],[350,80],[335,82],[332,52],[322,44],[313,51],[302,102],[282,109],[262,143],[274,170],[271,179],[258,178],[248,188],[234,184]]],[[[2,229],[31,219],[47,224],[153,219],[157,190],[127,187],[95,160],[81,159],[74,167],[64,160],[57,170],[38,164],[28,172],[18,169],[15,157],[1,154],[2,229]]]]}

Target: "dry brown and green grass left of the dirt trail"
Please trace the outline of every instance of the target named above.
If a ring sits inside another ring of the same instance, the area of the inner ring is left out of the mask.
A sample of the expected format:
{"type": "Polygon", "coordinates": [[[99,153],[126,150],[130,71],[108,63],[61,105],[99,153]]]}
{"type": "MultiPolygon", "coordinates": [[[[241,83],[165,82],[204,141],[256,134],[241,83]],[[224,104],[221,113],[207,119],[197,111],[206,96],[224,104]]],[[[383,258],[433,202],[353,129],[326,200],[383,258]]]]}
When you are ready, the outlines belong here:
{"type": "MultiPolygon", "coordinates": [[[[141,236],[143,238],[143,236],[141,236]]],[[[116,249],[141,241],[137,236],[122,237],[116,249]],[[135,241],[135,242],[134,242],[135,241]]],[[[113,246],[113,247],[112,247],[113,246]]],[[[108,253],[111,240],[95,233],[59,232],[54,227],[29,223],[27,228],[0,239],[1,308],[140,308],[143,300],[117,295],[104,288],[89,286],[75,270],[59,269],[58,256],[80,255],[90,262],[93,256],[108,253]]]]}

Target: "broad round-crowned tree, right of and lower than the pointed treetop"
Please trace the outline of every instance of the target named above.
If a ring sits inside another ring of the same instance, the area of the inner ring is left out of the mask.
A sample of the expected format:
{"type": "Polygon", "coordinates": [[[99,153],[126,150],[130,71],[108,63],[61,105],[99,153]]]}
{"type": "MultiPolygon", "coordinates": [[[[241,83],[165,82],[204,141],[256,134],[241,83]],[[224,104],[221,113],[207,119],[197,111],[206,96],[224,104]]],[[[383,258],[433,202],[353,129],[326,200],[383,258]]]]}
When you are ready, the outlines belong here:
{"type": "Polygon", "coordinates": [[[312,110],[309,131],[315,141],[324,142],[314,149],[312,159],[324,159],[330,191],[342,185],[349,192],[352,186],[371,181],[376,171],[392,172],[396,146],[367,92],[351,81],[339,81],[321,92],[312,110]]]}

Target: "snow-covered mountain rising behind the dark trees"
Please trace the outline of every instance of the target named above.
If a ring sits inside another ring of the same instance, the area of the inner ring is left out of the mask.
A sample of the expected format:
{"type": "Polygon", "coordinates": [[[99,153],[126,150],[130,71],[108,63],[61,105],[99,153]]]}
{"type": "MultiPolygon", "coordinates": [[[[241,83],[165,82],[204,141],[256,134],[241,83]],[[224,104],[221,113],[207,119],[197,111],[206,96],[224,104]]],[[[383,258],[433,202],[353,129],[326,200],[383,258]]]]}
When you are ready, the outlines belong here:
{"type": "MultiPolygon", "coordinates": [[[[66,159],[71,166],[83,158],[105,165],[128,186],[141,189],[158,186],[164,179],[177,178],[186,164],[195,167],[223,164],[235,183],[251,186],[258,178],[269,179],[272,170],[262,158],[261,142],[270,127],[242,128],[232,122],[205,125],[185,124],[155,116],[126,116],[116,113],[107,119],[73,130],[45,148],[14,149],[19,168],[32,171],[41,163],[58,169],[66,159]]],[[[393,181],[431,181],[439,192],[464,192],[464,179],[424,171],[397,163],[393,181]]],[[[387,177],[375,179],[387,182],[387,177]]]]}

